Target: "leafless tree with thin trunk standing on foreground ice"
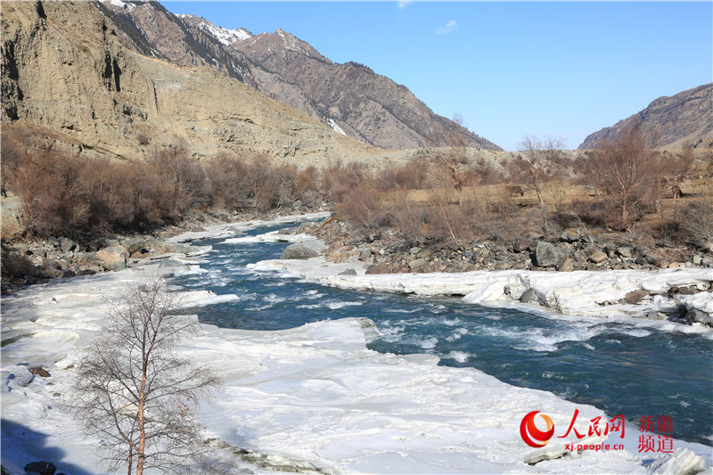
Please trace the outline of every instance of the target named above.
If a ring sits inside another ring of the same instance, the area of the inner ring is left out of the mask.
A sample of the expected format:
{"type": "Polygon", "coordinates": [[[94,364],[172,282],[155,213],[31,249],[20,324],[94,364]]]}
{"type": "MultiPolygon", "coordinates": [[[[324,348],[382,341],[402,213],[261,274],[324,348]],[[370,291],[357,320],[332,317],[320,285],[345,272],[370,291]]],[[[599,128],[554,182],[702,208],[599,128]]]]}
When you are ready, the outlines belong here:
{"type": "Polygon", "coordinates": [[[102,438],[110,471],[177,472],[207,453],[191,414],[218,381],[176,356],[176,342],[196,325],[174,315],[177,307],[161,280],[127,288],[78,364],[67,405],[87,434],[102,438]]]}

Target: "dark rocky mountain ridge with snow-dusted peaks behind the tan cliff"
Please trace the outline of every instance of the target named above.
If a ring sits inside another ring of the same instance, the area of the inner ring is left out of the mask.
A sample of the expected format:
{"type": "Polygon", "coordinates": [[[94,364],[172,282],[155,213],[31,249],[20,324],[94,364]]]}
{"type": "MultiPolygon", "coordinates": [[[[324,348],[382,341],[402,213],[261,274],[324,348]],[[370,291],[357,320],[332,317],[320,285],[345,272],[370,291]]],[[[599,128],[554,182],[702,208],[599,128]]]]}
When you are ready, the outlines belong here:
{"type": "Polygon", "coordinates": [[[435,114],[406,86],[355,62],[332,62],[282,29],[258,35],[223,29],[197,16],[174,15],[157,2],[111,0],[97,8],[135,51],[225,72],[364,143],[411,149],[455,142],[501,150],[435,114]]]}

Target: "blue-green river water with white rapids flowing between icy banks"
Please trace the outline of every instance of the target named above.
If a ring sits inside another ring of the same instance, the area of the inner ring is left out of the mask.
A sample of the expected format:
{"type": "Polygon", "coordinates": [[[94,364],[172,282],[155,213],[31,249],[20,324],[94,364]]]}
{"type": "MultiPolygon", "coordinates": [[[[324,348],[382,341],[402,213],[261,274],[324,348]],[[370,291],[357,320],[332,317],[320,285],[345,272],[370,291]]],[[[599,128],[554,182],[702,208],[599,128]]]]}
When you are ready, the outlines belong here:
{"type": "Polygon", "coordinates": [[[188,290],[237,296],[193,309],[203,323],[279,330],[368,317],[381,331],[368,344],[373,350],[430,353],[440,357],[440,364],[475,367],[509,384],[544,389],[635,423],[641,416],[669,415],[674,438],[713,445],[713,340],[706,336],[663,332],[641,319],[541,316],[458,298],[343,291],[246,268],[278,258],[288,243],[224,241],[201,241],[212,246],[201,274],[177,278],[188,290]]]}

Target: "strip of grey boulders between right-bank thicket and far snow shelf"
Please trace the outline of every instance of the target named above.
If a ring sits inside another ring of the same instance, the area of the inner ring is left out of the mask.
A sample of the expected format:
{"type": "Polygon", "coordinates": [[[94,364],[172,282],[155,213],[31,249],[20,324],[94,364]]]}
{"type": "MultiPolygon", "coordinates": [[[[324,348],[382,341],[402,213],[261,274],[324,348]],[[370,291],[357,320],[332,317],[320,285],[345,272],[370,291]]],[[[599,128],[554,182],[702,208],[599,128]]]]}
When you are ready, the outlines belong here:
{"type": "Polygon", "coordinates": [[[344,262],[357,258],[367,274],[468,272],[524,269],[571,272],[679,266],[713,267],[713,257],[685,248],[655,247],[650,236],[591,236],[580,228],[566,229],[556,241],[520,237],[512,242],[467,242],[443,246],[406,247],[383,239],[370,242],[343,222],[301,225],[299,232],[315,234],[329,243],[325,258],[344,262]]]}

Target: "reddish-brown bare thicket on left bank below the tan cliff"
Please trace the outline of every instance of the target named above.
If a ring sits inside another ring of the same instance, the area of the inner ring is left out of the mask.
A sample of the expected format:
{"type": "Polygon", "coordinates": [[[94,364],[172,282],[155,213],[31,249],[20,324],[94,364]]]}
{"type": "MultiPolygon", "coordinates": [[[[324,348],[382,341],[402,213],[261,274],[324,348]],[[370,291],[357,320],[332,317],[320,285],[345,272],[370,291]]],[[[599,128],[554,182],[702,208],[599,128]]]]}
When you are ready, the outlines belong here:
{"type": "Polygon", "coordinates": [[[324,188],[315,168],[278,165],[261,155],[224,154],[204,163],[177,147],[156,148],[145,161],[98,163],[5,129],[2,157],[3,187],[20,197],[21,224],[37,235],[150,229],[208,208],[319,205],[333,190],[350,185],[340,179],[351,172],[332,165],[324,188]]]}

